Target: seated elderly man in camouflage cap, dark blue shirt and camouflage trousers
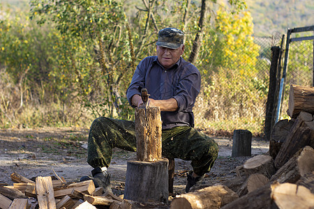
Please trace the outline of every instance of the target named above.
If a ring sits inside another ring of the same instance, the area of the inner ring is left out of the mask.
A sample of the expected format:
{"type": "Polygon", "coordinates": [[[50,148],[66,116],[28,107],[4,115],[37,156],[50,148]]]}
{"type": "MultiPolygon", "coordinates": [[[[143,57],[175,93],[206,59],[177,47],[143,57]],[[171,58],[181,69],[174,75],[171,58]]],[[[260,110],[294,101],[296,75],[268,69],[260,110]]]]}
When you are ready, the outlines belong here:
{"type": "MultiPolygon", "coordinates": [[[[209,172],[218,156],[218,145],[194,127],[193,107],[200,93],[201,77],[197,68],[185,61],[184,33],[165,28],[158,33],[157,56],[148,56],[137,65],[126,92],[132,107],[143,105],[140,92],[147,88],[148,105],[160,107],[162,119],[162,154],[169,158],[191,160],[193,171],[188,173],[186,192],[209,172]]],[[[91,125],[87,162],[94,167],[96,186],[110,189],[107,173],[112,148],[136,151],[135,124],[112,118],[97,118],[91,125]]]]}

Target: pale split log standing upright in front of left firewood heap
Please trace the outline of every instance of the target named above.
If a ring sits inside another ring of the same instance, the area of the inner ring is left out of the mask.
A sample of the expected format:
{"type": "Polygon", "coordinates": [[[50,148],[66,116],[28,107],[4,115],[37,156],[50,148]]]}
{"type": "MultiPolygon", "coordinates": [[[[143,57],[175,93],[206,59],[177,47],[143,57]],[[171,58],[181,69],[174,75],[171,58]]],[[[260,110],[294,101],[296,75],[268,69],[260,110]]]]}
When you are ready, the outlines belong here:
{"type": "Polygon", "coordinates": [[[54,209],[56,201],[54,199],[54,187],[50,176],[36,178],[36,194],[39,208],[54,209]]]}

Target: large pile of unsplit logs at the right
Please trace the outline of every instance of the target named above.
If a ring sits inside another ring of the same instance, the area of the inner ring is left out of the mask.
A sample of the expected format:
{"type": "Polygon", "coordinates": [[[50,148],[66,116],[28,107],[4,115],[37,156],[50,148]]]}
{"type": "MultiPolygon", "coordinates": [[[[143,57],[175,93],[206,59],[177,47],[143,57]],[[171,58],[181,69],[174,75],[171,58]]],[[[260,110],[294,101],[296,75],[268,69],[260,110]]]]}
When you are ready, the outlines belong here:
{"type": "Polygon", "coordinates": [[[222,183],[225,192],[198,185],[171,208],[314,208],[314,88],[292,85],[290,100],[292,119],[276,123],[267,155],[237,167],[237,178],[222,183]]]}

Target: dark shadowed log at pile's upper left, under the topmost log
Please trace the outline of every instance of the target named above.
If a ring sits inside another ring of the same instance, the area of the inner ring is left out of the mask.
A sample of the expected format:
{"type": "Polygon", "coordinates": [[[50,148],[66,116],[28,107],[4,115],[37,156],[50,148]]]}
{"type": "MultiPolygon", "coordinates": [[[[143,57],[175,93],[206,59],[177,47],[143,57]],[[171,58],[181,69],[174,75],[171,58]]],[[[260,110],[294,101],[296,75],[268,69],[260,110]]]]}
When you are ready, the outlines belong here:
{"type": "Polygon", "coordinates": [[[294,121],[292,120],[281,120],[278,121],[271,132],[271,139],[269,140],[269,155],[276,159],[283,142],[287,138],[287,135],[290,132],[290,129],[294,121]]]}

